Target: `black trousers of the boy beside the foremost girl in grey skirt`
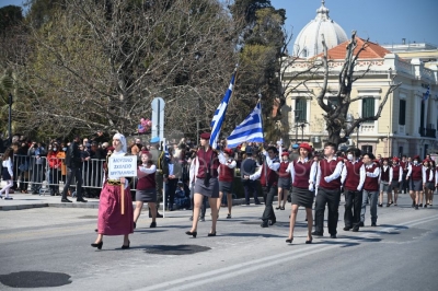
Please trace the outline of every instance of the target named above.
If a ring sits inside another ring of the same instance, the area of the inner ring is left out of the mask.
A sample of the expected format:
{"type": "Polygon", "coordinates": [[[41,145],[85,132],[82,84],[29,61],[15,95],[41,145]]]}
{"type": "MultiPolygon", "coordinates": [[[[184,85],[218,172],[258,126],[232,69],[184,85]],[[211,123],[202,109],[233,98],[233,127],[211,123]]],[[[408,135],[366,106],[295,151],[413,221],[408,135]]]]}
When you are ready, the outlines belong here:
{"type": "Polygon", "coordinates": [[[318,189],[315,202],[315,231],[324,233],[324,211],[325,205],[328,208],[328,233],[336,234],[337,219],[339,217],[338,208],[341,200],[341,189],[330,190],[324,188],[318,189]]]}

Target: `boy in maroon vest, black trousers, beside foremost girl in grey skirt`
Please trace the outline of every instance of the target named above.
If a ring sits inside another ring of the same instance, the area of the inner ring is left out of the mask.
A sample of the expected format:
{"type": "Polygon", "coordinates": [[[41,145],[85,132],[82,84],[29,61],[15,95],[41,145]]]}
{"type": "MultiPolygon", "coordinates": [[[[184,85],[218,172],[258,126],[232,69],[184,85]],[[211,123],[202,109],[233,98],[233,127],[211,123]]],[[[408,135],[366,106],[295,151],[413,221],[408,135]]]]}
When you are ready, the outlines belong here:
{"type": "Polygon", "coordinates": [[[316,202],[315,202],[315,231],[313,235],[324,234],[324,211],[325,205],[328,208],[328,233],[330,237],[336,238],[338,208],[341,200],[341,172],[344,165],[343,160],[335,156],[336,144],[327,142],[324,146],[324,159],[318,164],[316,174],[316,202]]]}

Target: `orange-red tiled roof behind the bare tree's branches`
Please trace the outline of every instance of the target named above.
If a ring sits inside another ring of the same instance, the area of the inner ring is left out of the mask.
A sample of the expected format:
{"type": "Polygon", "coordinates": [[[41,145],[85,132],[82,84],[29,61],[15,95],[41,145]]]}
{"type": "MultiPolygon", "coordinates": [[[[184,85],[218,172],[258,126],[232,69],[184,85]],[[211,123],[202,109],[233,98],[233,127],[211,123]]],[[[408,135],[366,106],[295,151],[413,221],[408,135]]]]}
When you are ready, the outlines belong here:
{"type": "MultiPolygon", "coordinates": [[[[354,55],[356,55],[359,49],[364,46],[365,39],[360,37],[356,37],[357,46],[355,48],[354,55]]],[[[327,55],[328,59],[345,59],[345,54],[347,51],[347,45],[349,40],[342,43],[338,46],[335,46],[332,49],[328,49],[327,55]]],[[[378,44],[371,43],[368,40],[365,50],[362,50],[359,55],[360,59],[382,59],[387,54],[392,54],[390,50],[384,47],[379,46],[378,44]]],[[[318,55],[318,57],[322,57],[323,54],[318,55]]]]}

